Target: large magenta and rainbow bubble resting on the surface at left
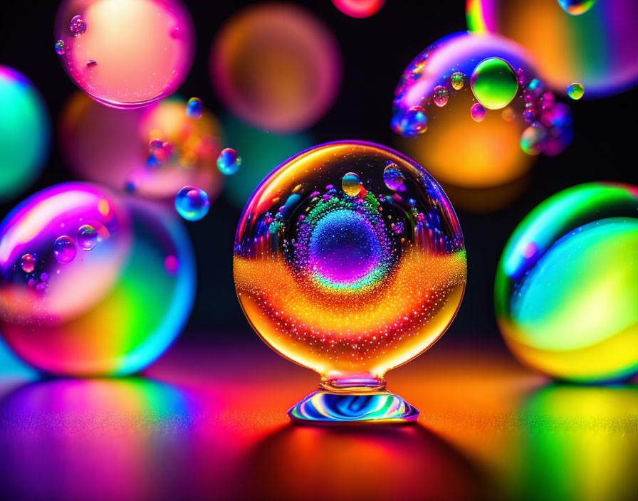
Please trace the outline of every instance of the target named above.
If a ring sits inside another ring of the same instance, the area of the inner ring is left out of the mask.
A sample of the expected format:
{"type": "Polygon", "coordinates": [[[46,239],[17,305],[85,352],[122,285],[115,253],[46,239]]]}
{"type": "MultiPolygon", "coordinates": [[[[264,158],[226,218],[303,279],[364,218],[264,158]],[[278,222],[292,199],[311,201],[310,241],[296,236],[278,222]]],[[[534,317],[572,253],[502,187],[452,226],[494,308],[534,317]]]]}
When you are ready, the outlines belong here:
{"type": "Polygon", "coordinates": [[[0,274],[0,334],[49,374],[143,369],[179,335],[194,299],[177,218],[88,183],[51,186],[6,216],[0,274]]]}

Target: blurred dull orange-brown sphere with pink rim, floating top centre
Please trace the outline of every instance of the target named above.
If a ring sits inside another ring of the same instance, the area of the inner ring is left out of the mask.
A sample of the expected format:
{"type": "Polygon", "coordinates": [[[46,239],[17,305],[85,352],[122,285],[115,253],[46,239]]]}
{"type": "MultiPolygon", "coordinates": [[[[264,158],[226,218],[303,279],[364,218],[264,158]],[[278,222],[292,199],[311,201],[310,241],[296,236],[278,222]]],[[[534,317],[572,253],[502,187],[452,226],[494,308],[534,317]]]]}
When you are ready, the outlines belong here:
{"type": "Polygon", "coordinates": [[[335,102],[342,61],[328,26],[299,6],[249,6],[221,27],[210,53],[219,99],[270,132],[312,126],[335,102]]]}

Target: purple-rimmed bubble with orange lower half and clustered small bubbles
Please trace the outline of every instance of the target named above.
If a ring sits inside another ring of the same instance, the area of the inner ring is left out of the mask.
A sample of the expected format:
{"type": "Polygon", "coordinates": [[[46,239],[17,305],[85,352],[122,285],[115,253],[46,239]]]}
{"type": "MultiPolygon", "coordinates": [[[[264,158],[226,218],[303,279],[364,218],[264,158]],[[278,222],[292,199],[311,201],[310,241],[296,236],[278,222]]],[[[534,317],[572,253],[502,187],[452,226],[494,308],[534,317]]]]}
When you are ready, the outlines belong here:
{"type": "Polygon", "coordinates": [[[395,90],[390,125],[405,138],[401,148],[473,211],[483,206],[472,192],[488,194],[486,210],[500,209],[512,200],[508,191],[518,195],[533,156],[560,154],[573,135],[568,105],[545,87],[521,46],[467,32],[441,38],[412,60],[395,90]]]}

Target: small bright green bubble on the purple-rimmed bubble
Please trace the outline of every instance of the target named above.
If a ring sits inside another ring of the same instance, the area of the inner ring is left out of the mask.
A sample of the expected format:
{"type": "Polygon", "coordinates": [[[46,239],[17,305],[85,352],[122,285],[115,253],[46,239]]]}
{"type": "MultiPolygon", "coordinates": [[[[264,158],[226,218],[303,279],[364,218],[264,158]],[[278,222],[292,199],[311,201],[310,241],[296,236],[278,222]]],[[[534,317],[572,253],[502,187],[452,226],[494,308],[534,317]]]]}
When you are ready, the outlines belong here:
{"type": "Polygon", "coordinates": [[[476,100],[488,110],[506,107],[518,92],[518,78],[512,65],[501,58],[483,59],[470,79],[476,100]]]}

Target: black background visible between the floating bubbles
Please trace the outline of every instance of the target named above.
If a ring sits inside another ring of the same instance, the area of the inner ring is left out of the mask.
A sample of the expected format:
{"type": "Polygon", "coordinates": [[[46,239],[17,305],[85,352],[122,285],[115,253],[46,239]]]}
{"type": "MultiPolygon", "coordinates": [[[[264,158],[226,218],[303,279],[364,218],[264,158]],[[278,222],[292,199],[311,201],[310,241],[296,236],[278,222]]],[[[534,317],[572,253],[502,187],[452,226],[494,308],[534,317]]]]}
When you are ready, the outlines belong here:
{"type": "MultiPolygon", "coordinates": [[[[0,64],[16,68],[33,81],[46,100],[55,126],[61,107],[75,90],[53,51],[53,20],[58,1],[0,2],[0,64]]],[[[206,107],[221,115],[224,109],[208,75],[211,42],[225,19],[255,2],[185,3],[197,28],[197,53],[189,78],[179,93],[184,97],[200,97],[206,107]]],[[[340,95],[328,115],[310,130],[317,144],[335,139],[366,139],[392,146],[390,108],[394,86],[405,66],[429,43],[466,29],[463,0],[387,0],[377,14],[367,19],[345,16],[330,0],[293,3],[306,6],[323,19],[338,38],[342,51],[344,75],[340,95]]],[[[634,155],[638,143],[637,99],[638,91],[632,90],[604,100],[571,102],[575,128],[572,144],[558,157],[539,157],[528,189],[516,202],[488,214],[457,208],[466,239],[469,282],[459,315],[446,339],[463,342],[498,339],[492,302],[496,264],[518,221],[536,204],[585,181],[638,182],[634,155]]],[[[2,217],[29,194],[74,179],[56,143],[54,137],[51,157],[40,179],[14,203],[0,206],[2,217]]],[[[427,169],[427,165],[424,167],[427,169]]],[[[186,223],[199,274],[197,301],[186,337],[241,341],[253,335],[236,300],[232,278],[231,254],[239,215],[222,194],[212,204],[209,216],[197,223],[186,223]]]]}

